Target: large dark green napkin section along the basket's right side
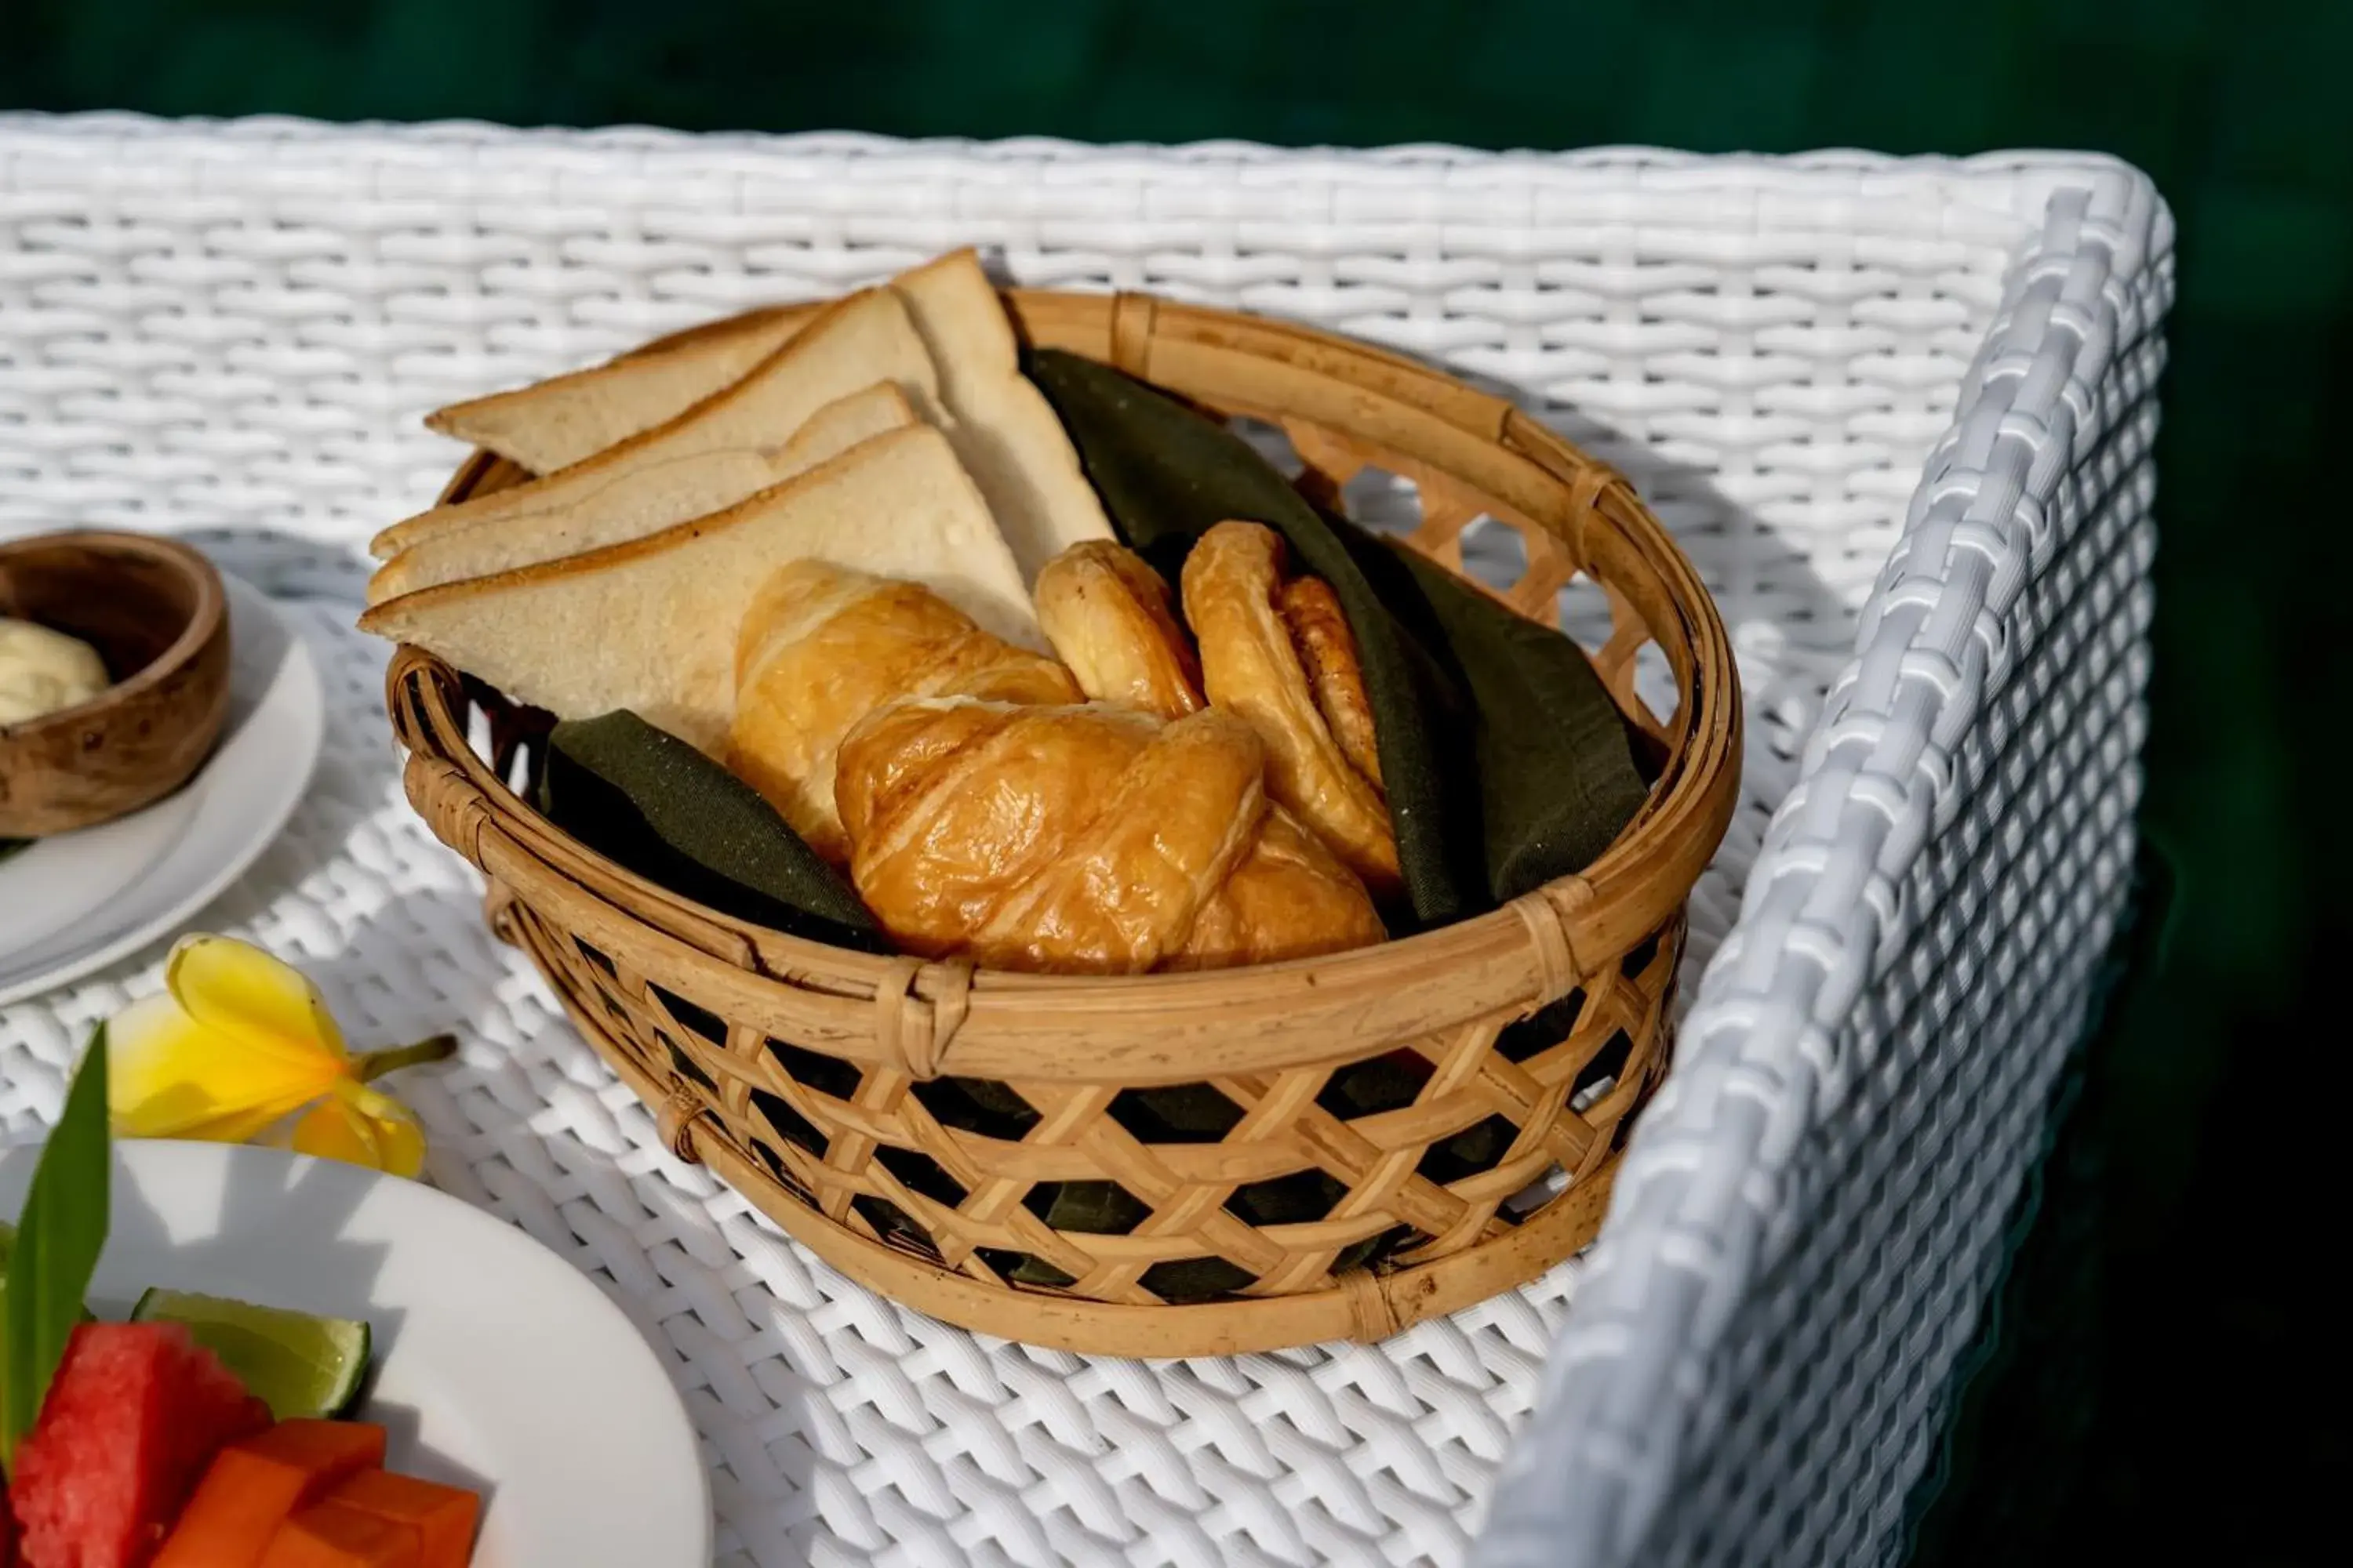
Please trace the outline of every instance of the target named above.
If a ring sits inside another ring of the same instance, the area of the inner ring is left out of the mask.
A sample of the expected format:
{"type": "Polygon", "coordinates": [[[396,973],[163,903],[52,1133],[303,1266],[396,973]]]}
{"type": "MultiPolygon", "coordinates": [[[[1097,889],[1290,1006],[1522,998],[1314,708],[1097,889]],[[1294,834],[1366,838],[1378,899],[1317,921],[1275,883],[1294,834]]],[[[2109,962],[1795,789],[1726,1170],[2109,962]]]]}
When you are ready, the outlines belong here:
{"type": "Polygon", "coordinates": [[[1038,350],[1113,527],[1172,583],[1219,522],[1264,522],[1348,614],[1412,914],[1442,926],[1581,872],[1647,795],[1584,649],[1308,505],[1242,437],[1108,364],[1038,350]]]}

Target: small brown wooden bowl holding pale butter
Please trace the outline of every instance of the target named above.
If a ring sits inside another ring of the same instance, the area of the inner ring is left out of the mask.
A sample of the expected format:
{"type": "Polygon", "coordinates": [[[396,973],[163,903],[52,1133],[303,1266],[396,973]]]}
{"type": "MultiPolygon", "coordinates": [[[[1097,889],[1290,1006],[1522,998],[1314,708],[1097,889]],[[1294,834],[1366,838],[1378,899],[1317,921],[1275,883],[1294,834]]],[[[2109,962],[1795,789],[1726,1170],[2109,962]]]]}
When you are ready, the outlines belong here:
{"type": "Polygon", "coordinates": [[[115,684],[0,726],[0,839],[71,832],[188,783],[228,715],[228,599],[188,545],[148,534],[0,543],[0,616],[89,642],[115,684]]]}

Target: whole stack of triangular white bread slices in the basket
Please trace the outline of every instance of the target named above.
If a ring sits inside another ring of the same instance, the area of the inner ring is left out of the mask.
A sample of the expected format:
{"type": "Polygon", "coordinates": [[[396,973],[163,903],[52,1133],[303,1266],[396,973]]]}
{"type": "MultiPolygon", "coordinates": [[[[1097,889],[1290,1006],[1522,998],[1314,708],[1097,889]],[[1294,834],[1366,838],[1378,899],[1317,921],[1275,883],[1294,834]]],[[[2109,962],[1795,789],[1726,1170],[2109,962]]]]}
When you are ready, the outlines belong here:
{"type": "Polygon", "coordinates": [[[776,564],[925,583],[1042,649],[1038,571],[1113,538],[969,249],[428,423],[536,477],[379,534],[360,625],[555,717],[628,708],[706,752],[776,564]]]}

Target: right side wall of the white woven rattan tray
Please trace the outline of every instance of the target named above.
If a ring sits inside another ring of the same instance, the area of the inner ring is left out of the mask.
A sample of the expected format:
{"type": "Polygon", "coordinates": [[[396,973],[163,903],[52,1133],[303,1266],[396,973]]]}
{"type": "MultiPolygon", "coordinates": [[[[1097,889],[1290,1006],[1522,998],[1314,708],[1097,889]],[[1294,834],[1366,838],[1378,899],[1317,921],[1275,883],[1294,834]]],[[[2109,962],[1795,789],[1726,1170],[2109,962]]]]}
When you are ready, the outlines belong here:
{"type": "Polygon", "coordinates": [[[2087,176],[1962,386],[1480,1544],[1894,1561],[2132,872],[2172,223],[2087,176]]]}

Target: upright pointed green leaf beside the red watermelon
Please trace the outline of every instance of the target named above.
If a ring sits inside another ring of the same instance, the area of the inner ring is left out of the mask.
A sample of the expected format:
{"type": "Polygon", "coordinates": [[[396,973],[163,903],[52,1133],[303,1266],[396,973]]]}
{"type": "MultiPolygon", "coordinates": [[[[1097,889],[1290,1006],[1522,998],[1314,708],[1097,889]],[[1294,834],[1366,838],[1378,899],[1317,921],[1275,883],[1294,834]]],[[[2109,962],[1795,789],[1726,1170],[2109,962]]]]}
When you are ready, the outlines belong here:
{"type": "Polygon", "coordinates": [[[106,1025],[89,1037],[16,1220],[0,1288],[0,1462],[40,1420],[49,1378],[82,1321],[108,1220],[106,1025]]]}

